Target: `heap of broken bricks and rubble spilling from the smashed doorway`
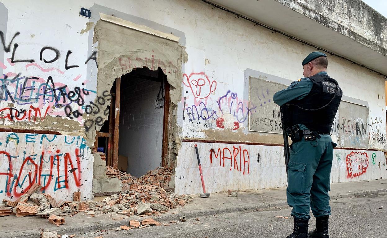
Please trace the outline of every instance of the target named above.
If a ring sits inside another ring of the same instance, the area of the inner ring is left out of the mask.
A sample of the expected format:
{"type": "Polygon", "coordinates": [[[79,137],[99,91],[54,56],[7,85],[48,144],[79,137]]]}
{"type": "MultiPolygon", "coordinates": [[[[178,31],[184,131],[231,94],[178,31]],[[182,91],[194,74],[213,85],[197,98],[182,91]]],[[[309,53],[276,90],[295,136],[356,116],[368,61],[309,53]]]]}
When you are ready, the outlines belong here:
{"type": "Polygon", "coordinates": [[[80,201],[80,192],[74,192],[73,201],[56,201],[50,194],[38,194],[41,186],[34,184],[16,201],[3,199],[0,204],[0,216],[15,214],[16,217],[37,215],[53,224],[63,224],[66,213],[73,216],[80,211],[95,216],[96,213],[117,213],[132,216],[159,215],[176,206],[192,201],[191,196],[177,196],[164,189],[170,181],[172,169],[168,166],[149,171],[136,178],[108,167],[108,176],[116,176],[125,184],[125,191],[106,197],[101,202],[80,201]]]}

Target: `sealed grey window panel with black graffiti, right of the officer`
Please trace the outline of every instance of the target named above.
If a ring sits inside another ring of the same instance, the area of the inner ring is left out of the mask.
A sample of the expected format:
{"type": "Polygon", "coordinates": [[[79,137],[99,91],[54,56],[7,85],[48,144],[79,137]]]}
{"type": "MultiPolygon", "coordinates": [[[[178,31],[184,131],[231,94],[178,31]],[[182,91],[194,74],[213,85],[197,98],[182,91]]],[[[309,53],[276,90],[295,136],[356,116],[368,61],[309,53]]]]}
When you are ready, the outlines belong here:
{"type": "Polygon", "coordinates": [[[368,148],[368,107],[341,101],[332,125],[333,134],[341,147],[368,148]]]}

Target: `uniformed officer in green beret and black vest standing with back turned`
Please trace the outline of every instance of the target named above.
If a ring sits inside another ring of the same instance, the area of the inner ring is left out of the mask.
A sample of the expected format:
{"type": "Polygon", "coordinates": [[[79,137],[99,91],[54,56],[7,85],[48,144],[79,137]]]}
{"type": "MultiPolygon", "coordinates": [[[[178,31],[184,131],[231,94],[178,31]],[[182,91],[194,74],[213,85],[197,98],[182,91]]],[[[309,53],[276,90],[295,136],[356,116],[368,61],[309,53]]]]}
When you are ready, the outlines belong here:
{"type": "Polygon", "coordinates": [[[292,139],[286,195],[292,207],[294,231],[287,238],[329,238],[330,170],[333,148],[330,130],[341,101],[342,90],[327,74],[328,60],[322,52],[310,53],[302,62],[298,81],[273,96],[284,108],[286,132],[292,139]],[[293,133],[293,135],[292,135],[293,133]],[[310,208],[316,229],[309,232],[310,208]]]}

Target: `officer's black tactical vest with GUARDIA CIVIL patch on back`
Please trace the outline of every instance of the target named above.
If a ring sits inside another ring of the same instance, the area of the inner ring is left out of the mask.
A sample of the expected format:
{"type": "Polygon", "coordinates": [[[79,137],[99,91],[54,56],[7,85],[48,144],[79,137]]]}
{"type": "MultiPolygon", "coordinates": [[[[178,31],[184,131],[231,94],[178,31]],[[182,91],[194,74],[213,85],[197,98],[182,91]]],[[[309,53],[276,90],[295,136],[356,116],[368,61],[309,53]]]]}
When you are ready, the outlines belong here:
{"type": "Polygon", "coordinates": [[[329,134],[339,108],[342,90],[339,88],[332,102],[325,106],[336,92],[336,81],[327,75],[315,74],[309,77],[313,86],[309,94],[301,100],[292,100],[283,112],[286,127],[304,124],[308,129],[329,134]],[[320,110],[313,110],[325,106],[320,110]],[[301,108],[308,109],[302,110],[301,108]],[[310,110],[312,109],[312,110],[310,110]]]}

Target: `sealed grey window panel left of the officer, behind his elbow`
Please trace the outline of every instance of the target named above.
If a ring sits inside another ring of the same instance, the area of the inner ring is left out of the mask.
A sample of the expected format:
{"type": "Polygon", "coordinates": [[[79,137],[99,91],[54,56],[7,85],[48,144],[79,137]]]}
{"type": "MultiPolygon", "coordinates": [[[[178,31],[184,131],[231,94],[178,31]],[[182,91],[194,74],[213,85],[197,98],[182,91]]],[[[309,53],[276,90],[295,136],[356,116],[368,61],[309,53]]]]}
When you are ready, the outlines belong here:
{"type": "Polygon", "coordinates": [[[281,114],[279,106],[273,102],[273,95],[288,86],[268,80],[250,77],[249,105],[257,107],[249,115],[248,129],[253,132],[282,133],[281,114]]]}

